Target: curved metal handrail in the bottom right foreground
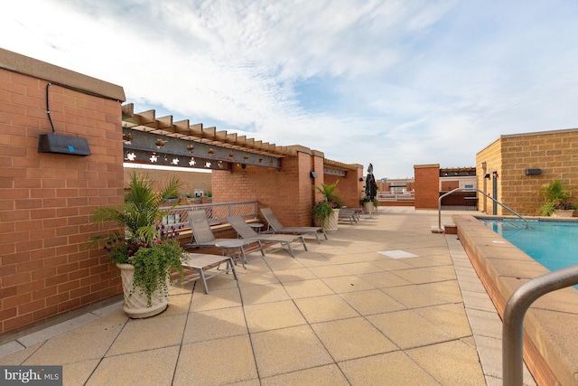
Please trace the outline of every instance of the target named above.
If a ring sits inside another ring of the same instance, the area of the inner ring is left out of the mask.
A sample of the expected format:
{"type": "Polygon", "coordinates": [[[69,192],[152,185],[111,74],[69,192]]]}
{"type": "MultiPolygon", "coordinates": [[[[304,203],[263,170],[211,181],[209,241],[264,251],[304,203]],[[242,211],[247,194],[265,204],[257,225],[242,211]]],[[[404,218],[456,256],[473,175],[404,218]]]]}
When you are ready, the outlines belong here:
{"type": "Polygon", "coordinates": [[[505,386],[522,386],[524,382],[522,345],[527,309],[539,297],[575,285],[578,285],[578,264],[533,278],[509,297],[502,325],[502,379],[505,386]]]}

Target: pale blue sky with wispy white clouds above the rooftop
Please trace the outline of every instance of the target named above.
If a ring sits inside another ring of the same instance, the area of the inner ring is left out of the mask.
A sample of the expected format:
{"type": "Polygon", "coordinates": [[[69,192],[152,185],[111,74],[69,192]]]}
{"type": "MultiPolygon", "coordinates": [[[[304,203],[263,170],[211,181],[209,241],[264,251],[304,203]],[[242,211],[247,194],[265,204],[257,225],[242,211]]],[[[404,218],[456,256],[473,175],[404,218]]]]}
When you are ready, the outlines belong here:
{"type": "Polygon", "coordinates": [[[0,47],[376,178],[578,127],[574,0],[19,0],[0,47]]]}

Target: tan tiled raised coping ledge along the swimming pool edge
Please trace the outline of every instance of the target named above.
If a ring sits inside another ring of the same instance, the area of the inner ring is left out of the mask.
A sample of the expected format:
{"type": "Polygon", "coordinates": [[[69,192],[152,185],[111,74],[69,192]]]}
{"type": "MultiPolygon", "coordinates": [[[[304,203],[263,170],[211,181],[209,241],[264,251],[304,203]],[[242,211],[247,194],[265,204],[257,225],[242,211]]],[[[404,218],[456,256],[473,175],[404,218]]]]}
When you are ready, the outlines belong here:
{"type": "MultiPolygon", "coordinates": [[[[490,230],[479,218],[454,215],[458,238],[503,318],[509,297],[523,283],[549,270],[490,230]]],[[[558,220],[558,219],[556,219],[558,220]]],[[[537,384],[578,381],[578,291],[564,288],[539,298],[524,319],[524,360],[537,384]]]]}

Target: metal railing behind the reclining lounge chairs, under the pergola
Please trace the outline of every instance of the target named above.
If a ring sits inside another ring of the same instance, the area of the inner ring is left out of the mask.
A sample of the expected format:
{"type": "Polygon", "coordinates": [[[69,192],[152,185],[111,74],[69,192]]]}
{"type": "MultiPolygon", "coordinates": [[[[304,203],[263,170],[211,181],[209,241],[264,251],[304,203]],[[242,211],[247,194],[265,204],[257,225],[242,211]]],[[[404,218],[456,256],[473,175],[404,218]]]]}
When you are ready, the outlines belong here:
{"type": "Polygon", "coordinates": [[[256,217],[256,201],[197,203],[191,205],[177,205],[171,208],[163,217],[163,225],[175,228],[189,227],[189,211],[205,211],[211,225],[227,221],[229,216],[256,217]]]}

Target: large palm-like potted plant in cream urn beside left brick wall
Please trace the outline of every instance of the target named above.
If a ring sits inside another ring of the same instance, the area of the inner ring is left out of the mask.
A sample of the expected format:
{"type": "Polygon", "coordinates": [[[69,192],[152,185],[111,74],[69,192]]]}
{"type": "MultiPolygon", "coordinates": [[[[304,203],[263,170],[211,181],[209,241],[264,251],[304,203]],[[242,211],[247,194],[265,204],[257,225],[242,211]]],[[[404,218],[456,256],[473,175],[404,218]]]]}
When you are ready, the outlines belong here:
{"type": "MultiPolygon", "coordinates": [[[[154,190],[147,176],[132,174],[125,203],[116,208],[98,208],[92,221],[114,221],[124,231],[93,237],[89,245],[105,240],[108,258],[121,269],[125,294],[124,310],[130,317],[157,315],[168,305],[168,283],[172,272],[182,273],[184,250],[177,239],[178,230],[162,224],[170,208],[161,205],[174,196],[180,186],[172,177],[154,190]]],[[[173,205],[174,206],[174,205],[173,205]]]]}

